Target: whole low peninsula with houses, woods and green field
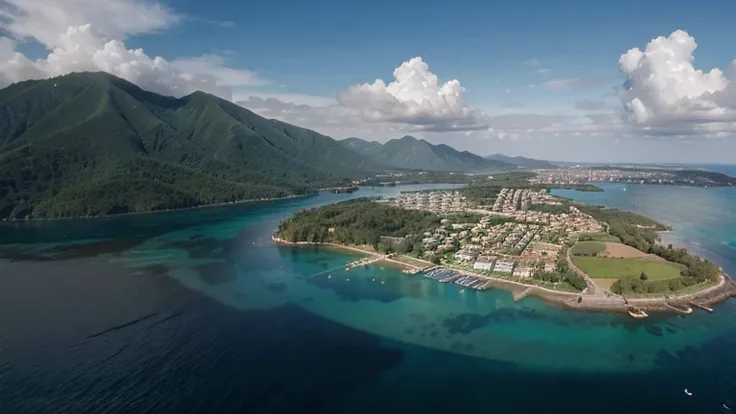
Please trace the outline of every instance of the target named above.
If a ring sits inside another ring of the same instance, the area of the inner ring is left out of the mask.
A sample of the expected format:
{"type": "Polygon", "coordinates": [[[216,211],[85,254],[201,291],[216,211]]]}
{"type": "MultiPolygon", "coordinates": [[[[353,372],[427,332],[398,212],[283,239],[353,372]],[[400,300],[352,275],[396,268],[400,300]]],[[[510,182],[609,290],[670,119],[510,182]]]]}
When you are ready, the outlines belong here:
{"type": "Polygon", "coordinates": [[[462,289],[634,318],[711,310],[736,292],[716,264],[663,245],[659,232],[669,228],[655,220],[554,197],[518,176],[499,181],[303,210],[282,220],[273,239],[366,256],[347,269],[385,260],[462,289]]]}

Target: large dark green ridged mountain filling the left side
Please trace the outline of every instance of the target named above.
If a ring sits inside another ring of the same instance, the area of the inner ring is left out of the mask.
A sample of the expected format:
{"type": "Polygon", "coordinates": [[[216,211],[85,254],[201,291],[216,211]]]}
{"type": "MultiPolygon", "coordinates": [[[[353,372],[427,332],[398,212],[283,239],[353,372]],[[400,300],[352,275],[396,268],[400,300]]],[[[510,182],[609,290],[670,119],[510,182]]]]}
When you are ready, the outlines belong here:
{"type": "Polygon", "coordinates": [[[382,167],[202,92],[106,73],[0,90],[0,218],[79,217],[304,194],[382,167]]]}

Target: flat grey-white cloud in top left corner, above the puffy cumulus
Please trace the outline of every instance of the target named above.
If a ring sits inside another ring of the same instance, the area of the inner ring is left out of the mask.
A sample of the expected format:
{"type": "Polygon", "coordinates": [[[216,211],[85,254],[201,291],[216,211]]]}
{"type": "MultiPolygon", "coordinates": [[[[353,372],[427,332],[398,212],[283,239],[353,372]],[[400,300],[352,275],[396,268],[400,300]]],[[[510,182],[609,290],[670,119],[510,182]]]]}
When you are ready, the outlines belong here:
{"type": "Polygon", "coordinates": [[[3,0],[0,28],[10,36],[59,46],[59,34],[69,27],[91,24],[105,37],[124,40],[180,21],[158,2],[142,0],[3,0]]]}

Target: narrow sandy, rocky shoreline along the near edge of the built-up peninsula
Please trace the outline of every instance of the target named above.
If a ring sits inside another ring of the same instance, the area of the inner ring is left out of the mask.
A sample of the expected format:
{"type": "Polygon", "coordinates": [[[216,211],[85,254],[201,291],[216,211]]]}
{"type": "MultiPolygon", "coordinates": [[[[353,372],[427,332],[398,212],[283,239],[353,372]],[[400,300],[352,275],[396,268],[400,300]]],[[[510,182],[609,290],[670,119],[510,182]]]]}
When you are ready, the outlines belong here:
{"type": "MultiPolygon", "coordinates": [[[[271,236],[271,240],[275,244],[281,246],[327,246],[338,250],[357,252],[368,256],[380,256],[379,253],[370,250],[336,243],[290,242],[280,239],[275,235],[271,236]]],[[[416,266],[411,266],[407,263],[402,263],[391,259],[384,260],[397,263],[401,266],[404,266],[405,268],[417,268],[416,266]]],[[[412,258],[412,260],[424,262],[421,259],[412,258]]],[[[428,267],[434,266],[430,262],[426,263],[428,267]]],[[[597,295],[594,293],[585,293],[585,291],[566,292],[562,290],[553,290],[537,285],[521,283],[513,280],[499,279],[492,276],[471,272],[465,269],[458,269],[452,266],[437,265],[437,267],[452,270],[454,272],[468,276],[475,276],[487,279],[490,282],[490,287],[511,292],[511,294],[514,295],[515,301],[520,300],[526,296],[534,296],[555,307],[562,307],[564,309],[583,312],[625,314],[628,312],[630,306],[635,306],[648,312],[679,314],[679,312],[672,309],[670,305],[690,307],[690,302],[696,302],[701,305],[711,306],[723,302],[736,295],[736,286],[734,285],[734,282],[725,272],[723,272],[723,270],[721,270],[720,281],[716,285],[704,287],[702,290],[699,290],[697,292],[687,293],[679,296],[670,296],[669,299],[664,299],[664,297],[632,298],[628,299],[628,303],[626,303],[622,296],[616,294],[606,296],[597,295]],[[580,300],[579,303],[578,300],[580,300]]]]}

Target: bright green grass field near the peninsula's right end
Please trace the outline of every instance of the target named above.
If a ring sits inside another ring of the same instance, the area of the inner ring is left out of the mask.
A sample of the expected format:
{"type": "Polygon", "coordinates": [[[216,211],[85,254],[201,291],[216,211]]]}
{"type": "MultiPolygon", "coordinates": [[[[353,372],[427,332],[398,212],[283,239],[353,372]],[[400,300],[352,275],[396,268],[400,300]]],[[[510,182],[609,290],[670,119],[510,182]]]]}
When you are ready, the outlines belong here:
{"type": "Polygon", "coordinates": [[[594,279],[638,278],[642,272],[646,273],[650,281],[672,279],[680,276],[680,268],[677,265],[646,259],[574,256],[572,261],[575,266],[594,279]]]}

